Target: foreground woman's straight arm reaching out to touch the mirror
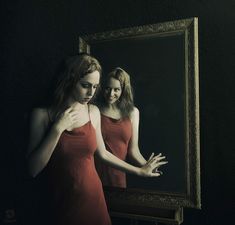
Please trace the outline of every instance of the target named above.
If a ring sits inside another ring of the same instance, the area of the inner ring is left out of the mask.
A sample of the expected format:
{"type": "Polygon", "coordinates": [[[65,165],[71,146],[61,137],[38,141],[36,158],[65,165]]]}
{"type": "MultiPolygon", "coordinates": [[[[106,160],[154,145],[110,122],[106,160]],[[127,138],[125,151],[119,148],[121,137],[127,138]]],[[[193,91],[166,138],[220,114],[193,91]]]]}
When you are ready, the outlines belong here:
{"type": "Polygon", "coordinates": [[[139,168],[130,165],[129,163],[126,163],[125,161],[117,158],[112,153],[106,150],[105,144],[103,141],[103,137],[101,134],[101,128],[100,128],[100,112],[99,109],[95,106],[92,107],[94,120],[95,120],[95,128],[96,128],[96,138],[97,138],[97,154],[101,158],[102,161],[107,163],[108,165],[122,170],[124,172],[136,174],[139,176],[149,176],[149,177],[157,177],[160,174],[159,173],[153,173],[153,170],[158,167],[159,165],[166,164],[167,162],[159,162],[157,157],[154,157],[152,154],[150,159],[147,161],[147,163],[139,168]]]}

